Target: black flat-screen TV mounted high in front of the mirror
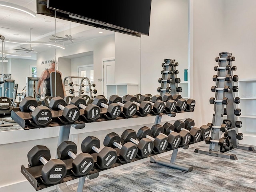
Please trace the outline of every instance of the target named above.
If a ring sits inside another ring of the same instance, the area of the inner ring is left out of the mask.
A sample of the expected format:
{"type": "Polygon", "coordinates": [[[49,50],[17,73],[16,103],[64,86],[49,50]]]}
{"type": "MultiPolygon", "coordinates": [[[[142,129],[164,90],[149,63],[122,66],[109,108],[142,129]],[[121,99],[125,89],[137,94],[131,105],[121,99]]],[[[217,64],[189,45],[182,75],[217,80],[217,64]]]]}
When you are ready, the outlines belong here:
{"type": "Polygon", "coordinates": [[[135,36],[149,35],[151,0],[47,0],[47,8],[92,26],[135,36]]]}

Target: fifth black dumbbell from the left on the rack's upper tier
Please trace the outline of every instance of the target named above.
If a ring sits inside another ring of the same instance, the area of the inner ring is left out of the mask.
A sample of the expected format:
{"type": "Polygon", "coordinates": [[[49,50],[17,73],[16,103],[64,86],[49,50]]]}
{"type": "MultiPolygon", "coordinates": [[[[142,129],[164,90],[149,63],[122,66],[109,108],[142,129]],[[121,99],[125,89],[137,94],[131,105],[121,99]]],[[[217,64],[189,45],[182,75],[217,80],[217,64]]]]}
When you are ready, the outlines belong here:
{"type": "Polygon", "coordinates": [[[108,99],[108,103],[117,103],[123,108],[123,114],[125,117],[132,117],[137,112],[137,105],[131,101],[122,103],[122,98],[117,95],[111,95],[108,99]]]}

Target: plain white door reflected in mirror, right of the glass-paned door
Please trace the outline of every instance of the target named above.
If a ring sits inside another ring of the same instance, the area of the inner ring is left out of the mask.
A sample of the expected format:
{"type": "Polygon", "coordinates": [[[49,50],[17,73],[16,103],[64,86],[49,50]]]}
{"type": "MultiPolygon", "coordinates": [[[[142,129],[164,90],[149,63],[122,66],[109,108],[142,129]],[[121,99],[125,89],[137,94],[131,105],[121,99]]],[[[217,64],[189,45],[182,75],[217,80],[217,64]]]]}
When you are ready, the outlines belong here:
{"type": "Polygon", "coordinates": [[[103,61],[103,94],[107,96],[108,84],[115,84],[115,65],[116,60],[103,61]]]}

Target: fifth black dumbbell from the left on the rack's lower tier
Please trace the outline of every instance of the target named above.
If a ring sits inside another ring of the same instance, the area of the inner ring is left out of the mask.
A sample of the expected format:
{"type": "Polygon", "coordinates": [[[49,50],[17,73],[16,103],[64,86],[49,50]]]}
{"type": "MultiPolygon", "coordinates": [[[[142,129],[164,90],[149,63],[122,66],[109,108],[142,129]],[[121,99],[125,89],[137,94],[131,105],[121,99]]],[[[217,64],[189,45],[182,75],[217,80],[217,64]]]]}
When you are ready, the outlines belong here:
{"type": "Polygon", "coordinates": [[[154,143],[148,138],[143,138],[140,141],[137,140],[136,132],[132,129],[126,129],[121,135],[121,142],[125,144],[127,142],[132,142],[137,145],[138,148],[138,158],[144,158],[149,156],[154,148],[154,143]]]}

